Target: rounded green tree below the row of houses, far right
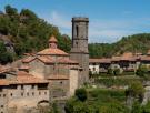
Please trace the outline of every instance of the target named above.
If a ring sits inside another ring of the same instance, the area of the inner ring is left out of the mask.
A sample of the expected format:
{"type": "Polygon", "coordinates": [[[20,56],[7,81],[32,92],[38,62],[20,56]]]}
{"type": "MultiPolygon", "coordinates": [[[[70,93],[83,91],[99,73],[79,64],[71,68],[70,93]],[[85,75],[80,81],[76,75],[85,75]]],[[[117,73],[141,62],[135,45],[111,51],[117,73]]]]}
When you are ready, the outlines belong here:
{"type": "Polygon", "coordinates": [[[142,78],[147,76],[147,74],[148,74],[148,68],[144,64],[141,64],[139,66],[139,69],[137,70],[136,74],[138,76],[142,76],[142,78]]]}

